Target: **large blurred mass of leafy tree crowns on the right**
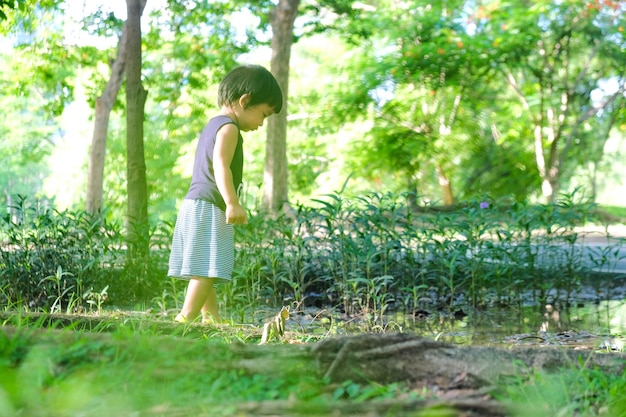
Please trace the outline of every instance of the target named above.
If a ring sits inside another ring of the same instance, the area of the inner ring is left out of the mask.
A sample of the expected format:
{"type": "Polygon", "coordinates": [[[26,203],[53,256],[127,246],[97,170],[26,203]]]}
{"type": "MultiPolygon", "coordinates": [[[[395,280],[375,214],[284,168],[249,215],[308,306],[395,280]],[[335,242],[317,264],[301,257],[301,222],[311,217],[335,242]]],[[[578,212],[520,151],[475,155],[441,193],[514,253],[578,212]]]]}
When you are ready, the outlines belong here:
{"type": "Polygon", "coordinates": [[[542,180],[544,193],[546,182],[553,190],[546,197],[556,198],[585,161],[601,160],[624,108],[623,83],[605,87],[623,67],[616,54],[624,42],[620,5],[375,7],[370,18],[378,30],[334,63],[340,75],[325,84],[323,97],[309,96],[329,109],[321,123],[371,126],[352,142],[355,172],[375,180],[393,175],[392,190],[417,188],[438,200],[439,171],[457,198],[504,197],[514,189],[522,201],[538,194],[542,180]],[[600,92],[601,103],[593,97],[600,92]]]}

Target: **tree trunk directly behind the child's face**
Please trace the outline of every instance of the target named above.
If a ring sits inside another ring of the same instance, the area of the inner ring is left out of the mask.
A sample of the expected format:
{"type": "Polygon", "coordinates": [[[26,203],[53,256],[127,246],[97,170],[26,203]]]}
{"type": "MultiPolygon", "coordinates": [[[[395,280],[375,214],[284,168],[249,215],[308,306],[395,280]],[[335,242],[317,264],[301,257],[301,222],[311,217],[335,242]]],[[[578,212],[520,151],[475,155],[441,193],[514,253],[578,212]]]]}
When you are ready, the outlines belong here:
{"type": "Polygon", "coordinates": [[[289,97],[289,61],[293,44],[293,24],[300,0],[280,0],[270,12],[272,25],[271,71],[283,91],[283,110],[268,119],[265,171],[263,174],[263,209],[279,212],[288,204],[287,188],[287,114],[289,97]]]}

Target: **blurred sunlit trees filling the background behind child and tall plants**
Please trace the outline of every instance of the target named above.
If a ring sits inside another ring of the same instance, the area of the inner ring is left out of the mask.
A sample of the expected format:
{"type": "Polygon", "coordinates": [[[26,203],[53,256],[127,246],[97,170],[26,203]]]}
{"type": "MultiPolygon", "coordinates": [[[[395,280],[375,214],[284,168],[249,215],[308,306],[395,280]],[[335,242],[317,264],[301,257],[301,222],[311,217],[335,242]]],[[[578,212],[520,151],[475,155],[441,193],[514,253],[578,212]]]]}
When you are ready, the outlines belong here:
{"type": "MultiPolygon", "coordinates": [[[[122,3],[0,4],[3,206],[26,194],[85,207],[95,103],[119,50],[122,3]]],[[[241,63],[270,68],[272,50],[285,46],[272,42],[273,6],[147,0],[141,82],[151,223],[175,218],[219,79],[241,63]]],[[[549,202],[579,186],[601,200],[607,186],[623,186],[623,2],[301,0],[296,7],[284,146],[268,146],[279,138],[273,130],[244,137],[250,209],[278,210],[268,201],[285,193],[306,203],[340,189],[450,205],[549,202]],[[264,180],[273,169],[284,187],[264,180]]],[[[128,198],[125,100],[122,88],[105,135],[102,207],[116,219],[128,198]]]]}

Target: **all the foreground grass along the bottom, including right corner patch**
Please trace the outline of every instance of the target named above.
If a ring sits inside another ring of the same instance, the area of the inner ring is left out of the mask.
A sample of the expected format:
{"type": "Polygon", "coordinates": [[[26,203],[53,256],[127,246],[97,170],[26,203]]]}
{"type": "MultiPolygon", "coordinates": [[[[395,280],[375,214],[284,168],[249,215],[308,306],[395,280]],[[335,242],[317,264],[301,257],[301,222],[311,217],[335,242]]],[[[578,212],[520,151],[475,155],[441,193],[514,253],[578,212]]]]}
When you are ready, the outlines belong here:
{"type": "MultiPolygon", "coordinates": [[[[297,332],[282,343],[257,346],[255,336],[236,327],[189,325],[193,331],[185,331],[185,326],[147,318],[101,317],[110,321],[108,326],[61,330],[50,329],[55,325],[49,319],[18,314],[4,322],[3,417],[356,416],[363,410],[370,416],[476,415],[453,406],[456,399],[471,401],[467,391],[418,389],[402,382],[331,382],[306,359],[306,344],[298,342],[297,332]],[[446,399],[438,399],[443,394],[446,399]],[[395,412],[389,404],[395,404],[395,412]],[[413,411],[401,412],[402,405],[413,411]]],[[[624,390],[626,374],[582,367],[521,371],[480,395],[492,392],[514,417],[624,417],[624,390]]]]}

